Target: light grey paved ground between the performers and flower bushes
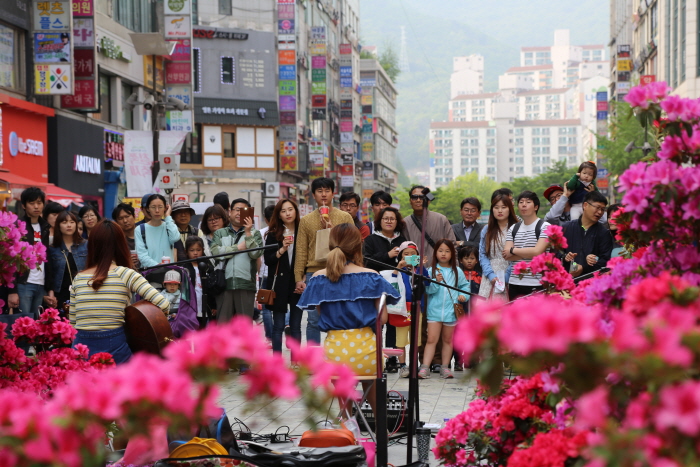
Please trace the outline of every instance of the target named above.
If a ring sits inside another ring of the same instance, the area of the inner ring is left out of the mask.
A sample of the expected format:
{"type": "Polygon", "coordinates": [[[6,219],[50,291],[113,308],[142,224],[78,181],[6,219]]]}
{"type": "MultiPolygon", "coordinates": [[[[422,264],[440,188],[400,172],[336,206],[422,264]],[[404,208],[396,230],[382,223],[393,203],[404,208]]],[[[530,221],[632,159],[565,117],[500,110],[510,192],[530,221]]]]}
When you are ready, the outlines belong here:
{"type": "MultiPolygon", "coordinates": [[[[303,335],[303,333],[302,333],[303,335]]],[[[288,351],[287,351],[288,358],[288,351]]],[[[420,420],[426,423],[443,423],[444,419],[451,418],[467,408],[473,398],[475,384],[472,380],[463,379],[466,373],[455,372],[455,379],[443,380],[437,374],[432,374],[430,379],[421,380],[420,388],[420,420]]],[[[229,381],[222,385],[220,403],[229,416],[232,425],[234,418],[243,421],[253,433],[274,433],[278,428],[288,426],[292,437],[299,437],[308,429],[309,421],[305,420],[305,409],[301,400],[292,402],[275,400],[272,403],[252,408],[242,393],[242,387],[238,384],[239,377],[231,375],[229,381]]],[[[358,385],[358,388],[360,386],[358,385]]],[[[408,379],[399,378],[397,373],[388,374],[387,387],[389,390],[408,391],[408,379]]],[[[337,403],[333,404],[330,418],[338,413],[337,403]]],[[[320,422],[325,419],[325,413],[318,414],[313,420],[320,422]]],[[[391,426],[389,426],[391,428],[391,426]]],[[[234,426],[234,431],[238,430],[234,426]]],[[[286,428],[280,430],[286,432],[286,428]]],[[[389,443],[389,463],[395,466],[406,464],[406,439],[399,439],[389,443]]],[[[414,445],[413,460],[418,459],[414,445]]],[[[275,445],[281,448],[281,445],[275,445]]],[[[431,464],[437,465],[432,457],[431,464]]]]}

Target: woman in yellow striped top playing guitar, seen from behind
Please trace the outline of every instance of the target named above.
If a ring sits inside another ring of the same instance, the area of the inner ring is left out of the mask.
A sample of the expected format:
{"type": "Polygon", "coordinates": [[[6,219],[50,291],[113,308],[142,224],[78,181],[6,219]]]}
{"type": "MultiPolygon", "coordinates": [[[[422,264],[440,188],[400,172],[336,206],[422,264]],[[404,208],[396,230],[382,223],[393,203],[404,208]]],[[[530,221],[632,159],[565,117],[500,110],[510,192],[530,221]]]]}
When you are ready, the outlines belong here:
{"type": "Polygon", "coordinates": [[[170,303],[141,274],[132,269],[131,253],[121,228],[100,221],[90,232],[86,269],[75,276],[70,294],[70,322],[78,330],[75,344],[90,355],[109,352],[117,364],[131,358],[124,330],[124,309],[133,294],[163,310],[170,303]]]}

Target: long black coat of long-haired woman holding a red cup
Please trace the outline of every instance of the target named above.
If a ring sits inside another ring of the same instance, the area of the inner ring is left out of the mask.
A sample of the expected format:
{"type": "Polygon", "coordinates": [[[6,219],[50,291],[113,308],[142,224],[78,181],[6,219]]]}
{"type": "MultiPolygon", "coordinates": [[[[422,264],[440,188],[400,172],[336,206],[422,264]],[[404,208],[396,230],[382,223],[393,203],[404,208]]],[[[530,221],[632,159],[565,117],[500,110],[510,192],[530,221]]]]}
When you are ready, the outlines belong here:
{"type": "MultiPolygon", "coordinates": [[[[294,232],[294,238],[297,238],[299,233],[299,228],[297,227],[294,232]]],[[[274,232],[268,231],[265,237],[265,245],[274,245],[275,243],[281,242],[277,241],[274,232]]],[[[278,249],[265,250],[264,259],[267,265],[267,280],[263,288],[268,290],[274,290],[276,297],[275,303],[268,306],[273,312],[286,313],[287,305],[296,306],[299,301],[300,294],[294,293],[296,289],[296,281],[294,280],[294,261],[296,260],[296,243],[294,244],[294,250],[292,251],[292,261],[289,261],[289,251],[286,251],[279,258],[277,257],[278,249]],[[278,268],[279,265],[279,268],[278,268]],[[277,272],[277,280],[275,280],[275,272],[277,272]],[[272,283],[274,282],[275,287],[272,288],[272,283]]],[[[281,246],[280,246],[281,248],[281,246]]]]}

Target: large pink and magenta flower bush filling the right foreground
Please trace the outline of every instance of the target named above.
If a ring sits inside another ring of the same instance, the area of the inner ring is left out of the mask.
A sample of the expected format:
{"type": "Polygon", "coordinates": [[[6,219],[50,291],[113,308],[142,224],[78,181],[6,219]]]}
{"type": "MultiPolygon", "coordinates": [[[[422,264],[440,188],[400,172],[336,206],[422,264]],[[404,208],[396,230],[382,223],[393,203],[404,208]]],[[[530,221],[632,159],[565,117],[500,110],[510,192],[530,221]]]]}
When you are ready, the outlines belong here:
{"type": "MultiPolygon", "coordinates": [[[[455,348],[479,362],[484,390],[440,432],[442,463],[700,465],[700,101],[668,93],[654,83],[627,96],[662,138],[658,154],[620,177],[624,207],[611,222],[628,257],[572,287],[568,300],[476,303],[458,323],[455,348]],[[503,381],[504,367],[516,382],[503,381]],[[519,412],[538,423],[516,438],[502,401],[525,381],[542,393],[519,407],[546,394],[544,412],[519,412]]],[[[530,269],[555,271],[554,261],[542,255],[530,269]]]]}

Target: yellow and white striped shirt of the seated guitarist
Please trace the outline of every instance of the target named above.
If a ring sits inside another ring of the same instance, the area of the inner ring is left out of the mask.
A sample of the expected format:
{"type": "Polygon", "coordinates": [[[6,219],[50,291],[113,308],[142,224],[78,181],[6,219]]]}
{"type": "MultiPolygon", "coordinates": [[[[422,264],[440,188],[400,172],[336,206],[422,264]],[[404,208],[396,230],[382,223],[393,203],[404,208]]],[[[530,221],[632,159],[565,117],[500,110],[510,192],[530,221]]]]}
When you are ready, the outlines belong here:
{"type": "Polygon", "coordinates": [[[167,312],[170,303],[133,269],[117,266],[109,271],[102,287],[90,285],[92,273],[78,273],[70,294],[70,324],[83,331],[107,331],[124,326],[124,308],[132,294],[167,312]]]}

